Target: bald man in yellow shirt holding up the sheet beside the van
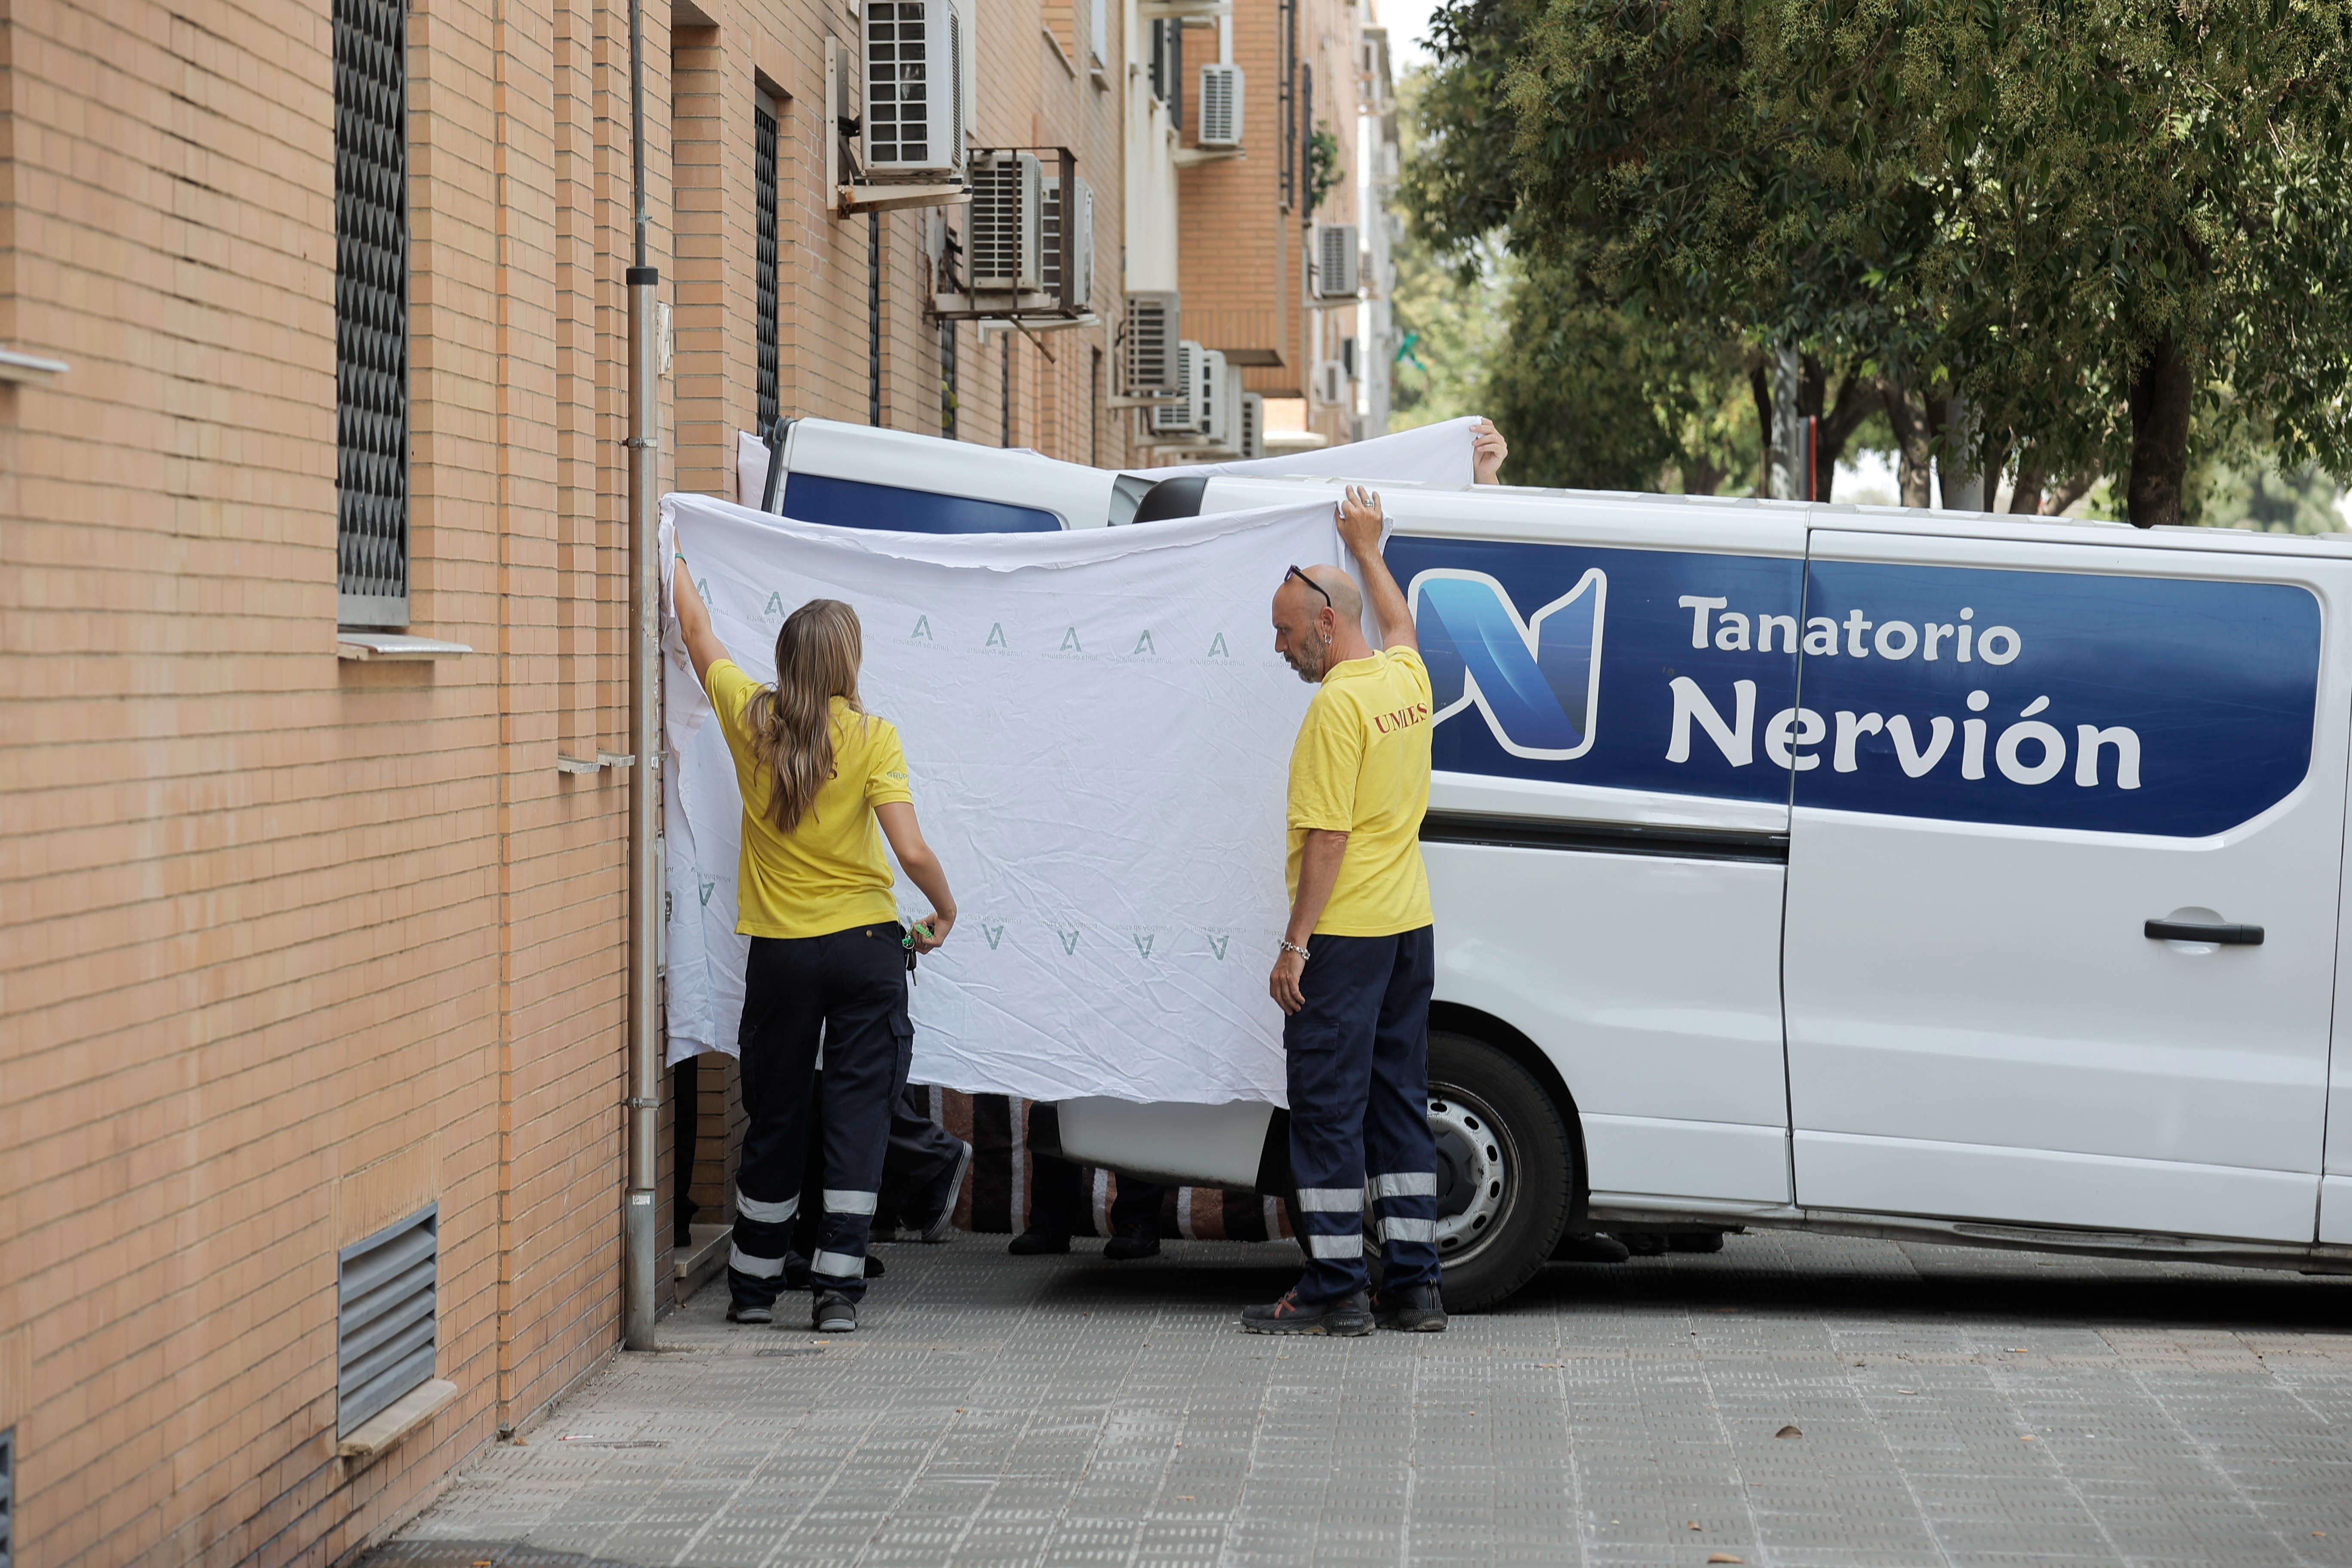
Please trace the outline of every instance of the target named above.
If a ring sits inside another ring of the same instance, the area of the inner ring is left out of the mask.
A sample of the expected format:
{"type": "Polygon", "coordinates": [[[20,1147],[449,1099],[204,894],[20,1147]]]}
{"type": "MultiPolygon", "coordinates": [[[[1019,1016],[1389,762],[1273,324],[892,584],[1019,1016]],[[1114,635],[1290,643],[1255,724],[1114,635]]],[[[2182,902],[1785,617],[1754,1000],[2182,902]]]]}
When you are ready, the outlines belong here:
{"type": "Polygon", "coordinates": [[[1348,487],[1338,534],[1371,592],[1338,567],[1291,567],[1275,590],[1275,651],[1315,686],[1291,748],[1291,924],[1268,983],[1284,1011],[1294,1222],[1308,1269],[1249,1333],[1442,1331],[1437,1147],[1430,1140],[1430,672],[1381,559],[1381,498],[1348,487]],[[1367,1171],[1369,1164],[1369,1171],[1367,1171]],[[1367,1298],[1364,1192],[1381,1227],[1367,1298]]]}

